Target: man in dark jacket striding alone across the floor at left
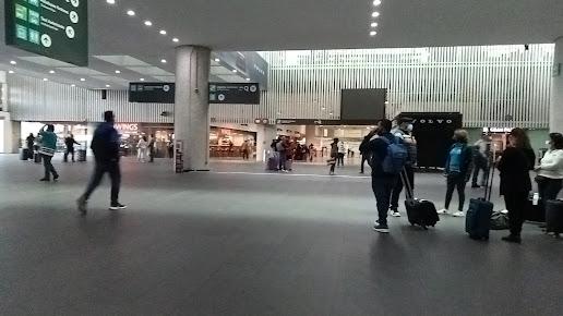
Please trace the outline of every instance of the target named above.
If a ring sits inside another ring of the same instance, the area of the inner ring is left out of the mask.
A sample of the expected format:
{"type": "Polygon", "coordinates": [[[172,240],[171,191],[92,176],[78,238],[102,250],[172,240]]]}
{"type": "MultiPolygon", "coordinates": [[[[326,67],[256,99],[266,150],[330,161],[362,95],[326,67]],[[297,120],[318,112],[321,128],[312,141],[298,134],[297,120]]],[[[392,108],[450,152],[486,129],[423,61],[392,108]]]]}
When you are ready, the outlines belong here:
{"type": "Polygon", "coordinates": [[[119,186],[121,184],[121,171],[119,169],[119,134],[113,127],[115,117],[112,111],[104,113],[105,122],[94,132],[92,150],[96,160],[94,175],[91,179],[86,192],[79,198],[79,210],[82,215],[87,212],[87,202],[94,190],[101,182],[104,173],[108,172],[111,179],[111,204],[109,209],[119,210],[127,208],[119,203],[119,186]]]}

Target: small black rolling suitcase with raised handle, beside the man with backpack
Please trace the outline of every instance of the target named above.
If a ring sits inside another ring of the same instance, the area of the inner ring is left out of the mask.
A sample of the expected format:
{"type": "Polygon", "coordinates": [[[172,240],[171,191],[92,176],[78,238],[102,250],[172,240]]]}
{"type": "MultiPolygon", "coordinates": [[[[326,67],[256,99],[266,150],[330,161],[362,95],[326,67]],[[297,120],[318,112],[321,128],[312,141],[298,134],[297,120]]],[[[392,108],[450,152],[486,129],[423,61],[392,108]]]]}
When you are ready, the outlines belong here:
{"type": "Polygon", "coordinates": [[[403,181],[403,186],[405,186],[405,193],[407,195],[405,208],[407,209],[407,217],[410,224],[418,224],[424,230],[428,230],[429,227],[435,227],[440,221],[440,217],[438,216],[434,204],[427,199],[415,198],[412,185],[404,171],[400,172],[400,181],[403,181]]]}

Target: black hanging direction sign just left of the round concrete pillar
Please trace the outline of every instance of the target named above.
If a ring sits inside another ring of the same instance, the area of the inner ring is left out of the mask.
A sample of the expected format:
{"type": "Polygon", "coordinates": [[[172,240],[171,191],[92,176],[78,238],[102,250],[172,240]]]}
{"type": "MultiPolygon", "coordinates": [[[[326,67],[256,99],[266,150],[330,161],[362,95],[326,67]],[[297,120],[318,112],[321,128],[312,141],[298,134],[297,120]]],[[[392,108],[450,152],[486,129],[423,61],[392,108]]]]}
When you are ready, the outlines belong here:
{"type": "Polygon", "coordinates": [[[173,83],[130,83],[129,101],[173,104],[176,101],[176,85],[173,83]]]}

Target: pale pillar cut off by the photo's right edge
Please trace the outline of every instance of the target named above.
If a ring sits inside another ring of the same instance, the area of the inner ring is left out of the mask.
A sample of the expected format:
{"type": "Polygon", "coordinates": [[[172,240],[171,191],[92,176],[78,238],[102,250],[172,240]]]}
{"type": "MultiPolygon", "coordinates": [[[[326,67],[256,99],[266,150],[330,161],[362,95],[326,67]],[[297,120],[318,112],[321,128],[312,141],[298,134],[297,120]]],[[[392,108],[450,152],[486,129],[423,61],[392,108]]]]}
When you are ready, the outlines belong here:
{"type": "Polygon", "coordinates": [[[551,105],[549,111],[550,132],[563,132],[563,36],[555,40],[551,105]]]}

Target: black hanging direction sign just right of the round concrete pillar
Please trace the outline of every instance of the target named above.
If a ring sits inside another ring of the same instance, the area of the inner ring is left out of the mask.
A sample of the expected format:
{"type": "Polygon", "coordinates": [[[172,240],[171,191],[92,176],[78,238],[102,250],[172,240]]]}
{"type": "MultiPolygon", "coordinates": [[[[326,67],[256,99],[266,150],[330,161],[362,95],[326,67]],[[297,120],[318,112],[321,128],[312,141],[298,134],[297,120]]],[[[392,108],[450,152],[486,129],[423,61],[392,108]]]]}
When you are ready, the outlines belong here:
{"type": "Polygon", "coordinates": [[[209,83],[209,104],[260,105],[260,85],[209,83]]]}

